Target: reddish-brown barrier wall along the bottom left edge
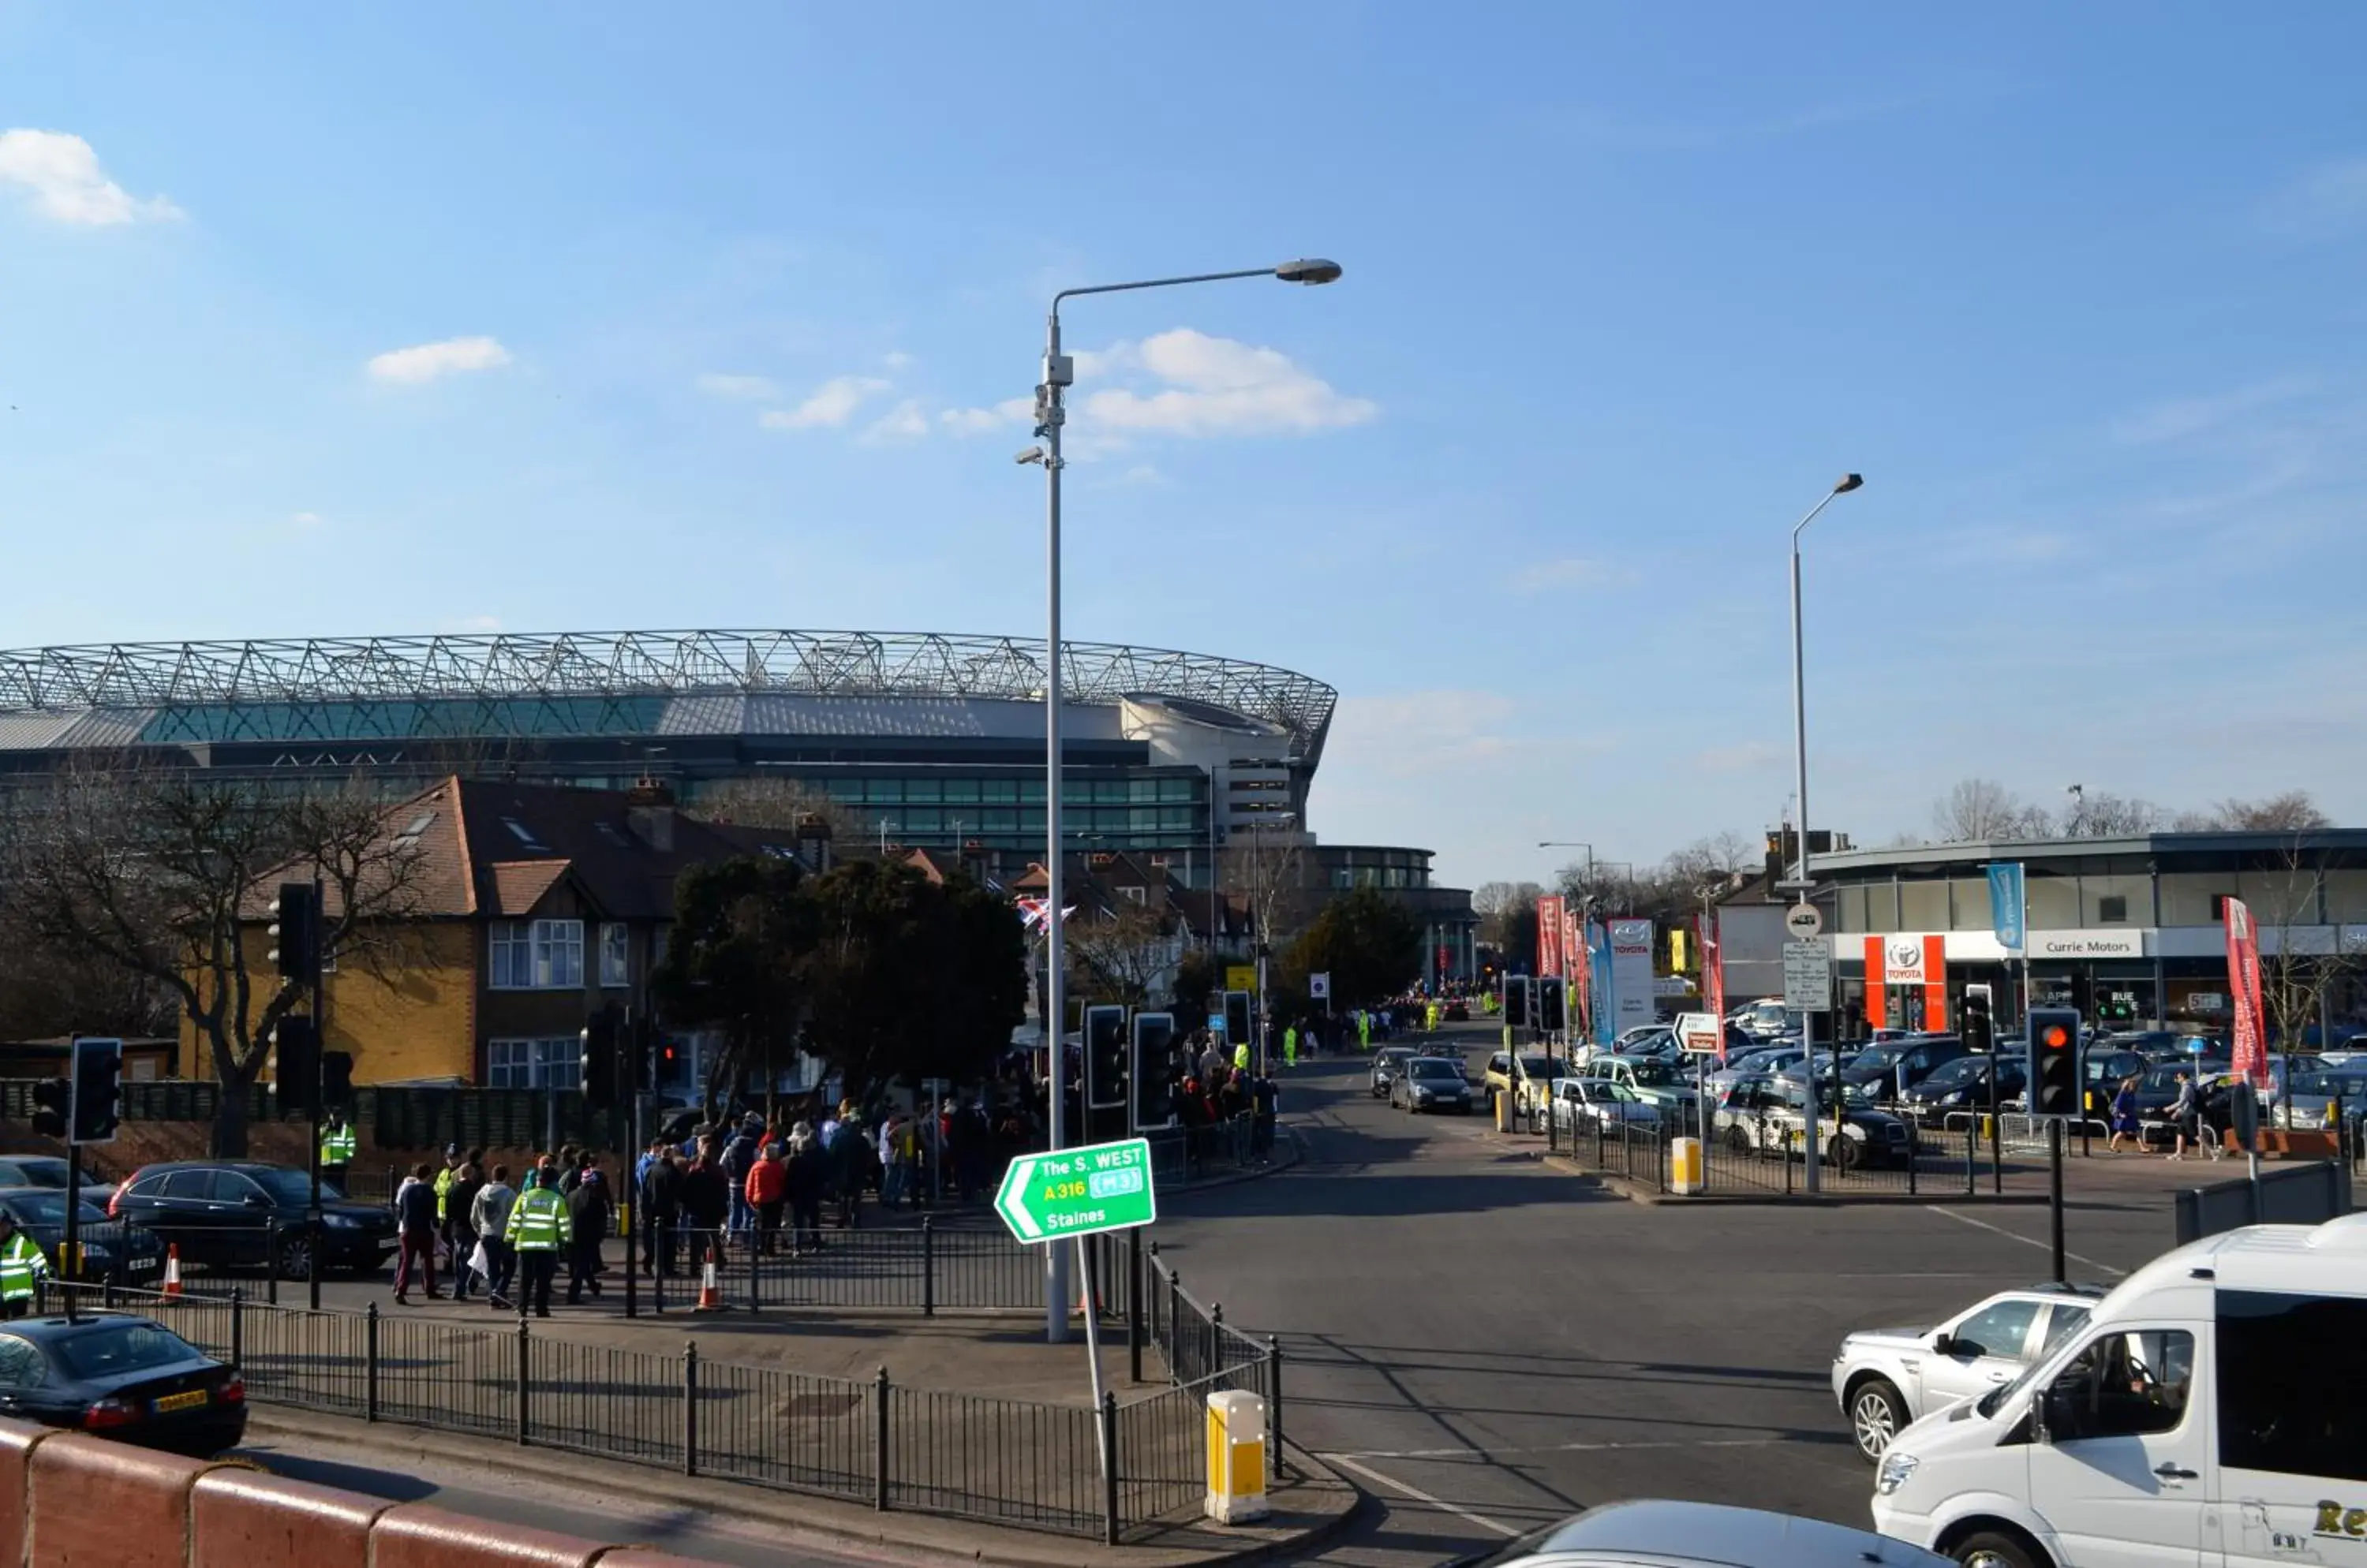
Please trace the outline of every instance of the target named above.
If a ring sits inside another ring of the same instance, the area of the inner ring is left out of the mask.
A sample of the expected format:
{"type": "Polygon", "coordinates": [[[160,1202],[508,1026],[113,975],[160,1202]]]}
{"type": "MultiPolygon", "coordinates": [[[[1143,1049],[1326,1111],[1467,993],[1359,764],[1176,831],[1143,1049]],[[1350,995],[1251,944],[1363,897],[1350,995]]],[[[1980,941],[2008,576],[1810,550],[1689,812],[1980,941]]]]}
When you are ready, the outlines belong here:
{"type": "Polygon", "coordinates": [[[703,1568],[0,1419],[0,1568],[703,1568]]]}

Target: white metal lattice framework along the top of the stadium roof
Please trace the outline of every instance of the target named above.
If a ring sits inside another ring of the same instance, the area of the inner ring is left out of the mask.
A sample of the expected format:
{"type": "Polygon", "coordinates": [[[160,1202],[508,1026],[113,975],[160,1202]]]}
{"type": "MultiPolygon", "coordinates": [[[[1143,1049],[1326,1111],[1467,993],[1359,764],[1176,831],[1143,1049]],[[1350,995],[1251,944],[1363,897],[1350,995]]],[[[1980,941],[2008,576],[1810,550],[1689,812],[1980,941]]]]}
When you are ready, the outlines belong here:
{"type": "MultiPolygon", "coordinates": [[[[1340,700],[1273,665],[1063,643],[1072,702],[1153,693],[1290,731],[1314,766],[1340,700]]],[[[1044,639],[935,631],[559,631],[0,650],[0,714],[241,702],[450,702],[791,693],[1044,700],[1044,639]]]]}

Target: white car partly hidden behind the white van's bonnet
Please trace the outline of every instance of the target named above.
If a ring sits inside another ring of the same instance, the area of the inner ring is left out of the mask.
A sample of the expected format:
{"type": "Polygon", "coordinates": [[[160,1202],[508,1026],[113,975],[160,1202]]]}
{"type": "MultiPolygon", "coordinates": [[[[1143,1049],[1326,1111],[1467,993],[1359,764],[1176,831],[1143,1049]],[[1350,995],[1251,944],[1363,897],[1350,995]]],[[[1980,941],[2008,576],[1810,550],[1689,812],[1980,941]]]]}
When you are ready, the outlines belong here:
{"type": "Polygon", "coordinates": [[[1832,1355],[1832,1398],[1868,1464],[1908,1424],[2007,1384],[2088,1322],[2104,1291],[2038,1284],[1998,1291],[1936,1329],[1858,1329],[1832,1355]]]}

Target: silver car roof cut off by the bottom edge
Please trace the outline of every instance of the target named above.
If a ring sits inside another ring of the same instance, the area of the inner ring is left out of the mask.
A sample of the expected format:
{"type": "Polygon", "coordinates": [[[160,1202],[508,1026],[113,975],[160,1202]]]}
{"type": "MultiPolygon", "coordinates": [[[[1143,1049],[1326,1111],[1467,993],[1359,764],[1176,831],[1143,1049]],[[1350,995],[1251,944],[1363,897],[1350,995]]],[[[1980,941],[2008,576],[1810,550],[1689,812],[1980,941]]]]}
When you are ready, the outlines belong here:
{"type": "Polygon", "coordinates": [[[1607,1502],[1449,1568],[1955,1568],[1922,1547],[1723,1502],[1607,1502]]]}

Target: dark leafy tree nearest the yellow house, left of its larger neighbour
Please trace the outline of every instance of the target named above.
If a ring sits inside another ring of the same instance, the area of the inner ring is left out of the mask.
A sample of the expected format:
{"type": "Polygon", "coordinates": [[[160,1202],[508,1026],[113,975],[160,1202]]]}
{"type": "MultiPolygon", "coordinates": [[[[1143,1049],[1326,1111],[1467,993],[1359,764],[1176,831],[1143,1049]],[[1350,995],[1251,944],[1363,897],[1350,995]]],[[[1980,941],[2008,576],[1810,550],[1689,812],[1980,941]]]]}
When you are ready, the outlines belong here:
{"type": "Polygon", "coordinates": [[[670,1022],[724,1036],[701,1086],[710,1114],[753,1062],[798,1043],[800,965],[819,937],[805,882],[802,868],[779,856],[710,861],[675,880],[675,934],[649,984],[670,1022]]]}

